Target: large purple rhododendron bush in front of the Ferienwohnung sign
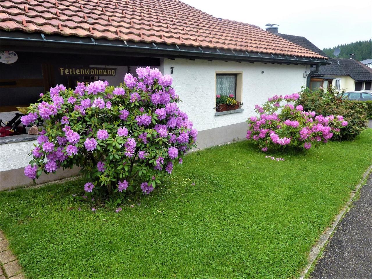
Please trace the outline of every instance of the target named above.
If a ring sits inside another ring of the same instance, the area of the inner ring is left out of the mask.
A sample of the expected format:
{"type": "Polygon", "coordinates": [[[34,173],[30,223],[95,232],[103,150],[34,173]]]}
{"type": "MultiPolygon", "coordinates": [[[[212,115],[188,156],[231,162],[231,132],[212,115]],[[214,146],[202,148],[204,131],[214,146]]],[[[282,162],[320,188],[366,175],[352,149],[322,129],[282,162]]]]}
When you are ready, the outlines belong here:
{"type": "Polygon", "coordinates": [[[126,74],[115,88],[97,80],[41,94],[41,102],[22,117],[25,125],[44,122],[25,175],[35,180],[43,171],[78,166],[89,181],[87,193],[148,194],[182,164],[198,132],[177,107],[172,77],[150,67],[136,72],[139,79],[126,74]]]}

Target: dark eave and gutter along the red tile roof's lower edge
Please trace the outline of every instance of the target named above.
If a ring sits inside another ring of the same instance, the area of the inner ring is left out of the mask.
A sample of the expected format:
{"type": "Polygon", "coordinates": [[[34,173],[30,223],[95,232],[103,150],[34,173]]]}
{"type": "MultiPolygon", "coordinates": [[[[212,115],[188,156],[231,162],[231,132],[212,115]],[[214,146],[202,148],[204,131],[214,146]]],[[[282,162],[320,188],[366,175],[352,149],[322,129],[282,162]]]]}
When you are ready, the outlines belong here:
{"type": "MultiPolygon", "coordinates": [[[[248,61],[284,64],[330,64],[324,58],[296,57],[259,52],[232,51],[227,49],[201,48],[184,45],[167,45],[131,41],[110,41],[89,37],[45,35],[42,33],[25,33],[19,31],[0,30],[2,47],[9,50],[38,52],[86,53],[106,51],[105,55],[161,57],[161,58],[193,58],[204,60],[248,61]]],[[[102,54],[102,53],[101,53],[102,54]]]]}

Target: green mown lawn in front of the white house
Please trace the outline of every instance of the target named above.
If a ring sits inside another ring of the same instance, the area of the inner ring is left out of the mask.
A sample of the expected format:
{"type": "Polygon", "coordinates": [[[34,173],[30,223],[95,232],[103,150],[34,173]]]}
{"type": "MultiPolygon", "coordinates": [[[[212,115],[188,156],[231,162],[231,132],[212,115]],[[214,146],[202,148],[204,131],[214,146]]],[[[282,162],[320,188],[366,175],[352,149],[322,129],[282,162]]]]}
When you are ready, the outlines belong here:
{"type": "Polygon", "coordinates": [[[190,153],[120,213],[73,198],[81,180],[2,192],[0,228],[32,279],[294,278],[371,165],[372,129],[272,155],[285,161],[247,141],[190,153]]]}

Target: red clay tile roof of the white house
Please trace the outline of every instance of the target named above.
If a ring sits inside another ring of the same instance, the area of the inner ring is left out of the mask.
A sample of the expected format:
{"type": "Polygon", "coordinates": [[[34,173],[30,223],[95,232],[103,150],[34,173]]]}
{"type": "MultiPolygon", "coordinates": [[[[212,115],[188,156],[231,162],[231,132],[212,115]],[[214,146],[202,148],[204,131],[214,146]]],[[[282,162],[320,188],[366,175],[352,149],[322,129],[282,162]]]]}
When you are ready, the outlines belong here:
{"type": "Polygon", "coordinates": [[[325,58],[178,0],[1,0],[0,29],[325,58]]]}

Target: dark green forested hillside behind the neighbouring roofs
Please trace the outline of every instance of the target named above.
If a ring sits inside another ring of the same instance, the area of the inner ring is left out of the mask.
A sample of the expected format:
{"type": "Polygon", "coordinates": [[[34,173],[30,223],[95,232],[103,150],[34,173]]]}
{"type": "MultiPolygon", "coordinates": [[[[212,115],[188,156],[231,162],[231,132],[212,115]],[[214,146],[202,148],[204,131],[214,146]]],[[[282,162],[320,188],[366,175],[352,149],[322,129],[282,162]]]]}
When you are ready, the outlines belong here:
{"type": "Polygon", "coordinates": [[[325,54],[329,57],[334,57],[333,51],[335,48],[340,48],[341,52],[339,58],[350,58],[349,54],[353,53],[354,59],[362,61],[365,59],[372,58],[372,40],[369,41],[359,41],[350,44],[338,45],[333,48],[323,48],[325,54]]]}

